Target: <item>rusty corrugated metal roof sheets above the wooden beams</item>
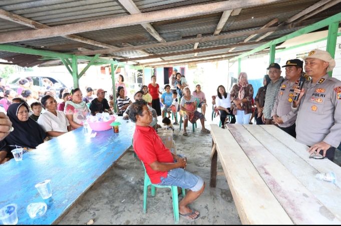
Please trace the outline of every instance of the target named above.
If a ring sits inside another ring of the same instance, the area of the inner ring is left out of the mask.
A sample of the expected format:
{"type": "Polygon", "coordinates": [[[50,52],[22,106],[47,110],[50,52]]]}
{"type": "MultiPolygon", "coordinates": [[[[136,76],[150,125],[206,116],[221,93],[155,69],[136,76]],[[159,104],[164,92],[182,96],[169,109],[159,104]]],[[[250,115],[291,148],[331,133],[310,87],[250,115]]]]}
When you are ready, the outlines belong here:
{"type": "MultiPolygon", "coordinates": [[[[171,9],[197,4],[207,4],[220,2],[222,0],[134,0],[134,3],[142,13],[154,12],[163,9],[171,9]]],[[[303,11],[309,6],[317,3],[319,0],[284,0],[275,4],[260,5],[251,8],[242,9],[239,15],[230,16],[224,25],[220,34],[230,34],[241,31],[253,31],[264,26],[274,18],[278,18],[279,23],[284,22],[288,18],[303,11]],[[253,19],[252,19],[253,17],[253,19]]],[[[57,26],[78,22],[86,22],[108,17],[119,17],[129,15],[128,11],[116,0],[2,0],[0,1],[0,9],[9,11],[13,14],[34,20],[36,22],[57,26]]],[[[341,4],[337,4],[330,9],[313,16],[310,19],[324,19],[341,12],[341,4]]],[[[217,24],[221,18],[221,13],[196,16],[191,18],[183,18],[177,20],[167,20],[151,23],[157,33],[167,42],[179,41],[185,39],[193,39],[198,34],[202,37],[212,36],[217,24]]],[[[309,19],[309,20],[310,20],[309,19]]],[[[276,26],[276,25],[274,25],[276,26]]],[[[29,27],[0,19],[0,34],[32,30],[29,27]]],[[[289,34],[296,29],[285,29],[276,31],[262,41],[273,40],[283,35],[289,34]]],[[[126,47],[127,45],[141,46],[148,44],[156,44],[158,41],[149,34],[141,25],[105,29],[99,31],[91,31],[75,34],[90,40],[101,42],[103,44],[126,47]]],[[[261,35],[254,37],[249,42],[254,42],[261,35]]],[[[211,48],[226,46],[231,44],[242,43],[247,36],[241,36],[230,39],[216,40],[199,43],[198,48],[211,48]]],[[[88,50],[101,50],[102,47],[81,43],[68,38],[53,37],[38,40],[28,40],[9,45],[21,46],[33,49],[44,49],[58,51],[63,53],[79,52],[78,48],[88,50]]],[[[259,45],[240,46],[234,51],[250,50],[259,45]]],[[[194,43],[164,46],[145,49],[150,55],[168,54],[193,50],[194,43]]],[[[224,53],[226,50],[214,50],[210,52],[198,53],[198,56],[208,54],[224,53]]],[[[121,51],[115,52],[113,55],[120,57],[139,57],[143,53],[141,51],[121,51]]],[[[144,55],[144,54],[143,54],[144,55]]],[[[189,54],[188,56],[193,56],[189,54]]],[[[184,58],[187,55],[166,57],[164,60],[184,58]]],[[[21,66],[34,66],[41,62],[39,57],[31,55],[16,54],[8,52],[0,52],[1,59],[8,59],[21,66]],[[14,59],[13,59],[14,58],[14,59]]],[[[152,61],[152,60],[150,60],[152,61]]]]}

